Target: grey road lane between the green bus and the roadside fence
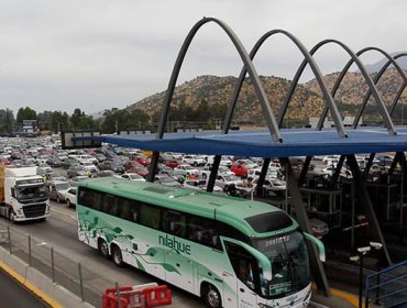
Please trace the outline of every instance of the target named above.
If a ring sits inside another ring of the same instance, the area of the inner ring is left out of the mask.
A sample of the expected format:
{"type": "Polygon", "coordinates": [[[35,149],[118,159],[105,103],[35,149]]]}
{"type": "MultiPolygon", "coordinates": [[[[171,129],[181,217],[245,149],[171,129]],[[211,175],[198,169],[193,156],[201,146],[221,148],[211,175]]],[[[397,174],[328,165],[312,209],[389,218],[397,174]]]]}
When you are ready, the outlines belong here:
{"type": "MultiPolygon", "coordinates": [[[[136,268],[124,266],[117,267],[113,262],[106,260],[98,254],[98,251],[82,244],[78,241],[77,237],[77,222],[75,209],[67,208],[65,204],[52,204],[52,215],[46,221],[32,221],[24,223],[12,223],[4,218],[0,218],[0,229],[4,229],[6,226],[10,226],[12,230],[16,230],[19,233],[31,234],[33,239],[32,251],[43,254],[44,260],[50,260],[50,255],[46,255],[45,248],[51,249],[53,246],[55,253],[55,262],[58,262],[57,255],[63,255],[72,261],[72,264],[65,266],[69,268],[73,277],[78,277],[77,263],[80,262],[84,272],[84,280],[86,285],[91,285],[91,289],[95,292],[92,296],[86,300],[90,301],[96,307],[100,307],[101,294],[108,287],[113,287],[116,282],[120,285],[139,285],[157,280],[155,277],[140,272],[136,268]],[[35,243],[34,243],[35,240],[35,243]]],[[[26,240],[20,240],[23,245],[26,245],[26,240]]],[[[24,251],[28,249],[25,248],[24,251]]],[[[61,262],[61,261],[59,261],[61,262]]],[[[170,286],[173,290],[173,302],[174,307],[205,307],[198,297],[195,297],[182,289],[170,286]]],[[[78,289],[78,287],[76,288],[78,289]]]]}

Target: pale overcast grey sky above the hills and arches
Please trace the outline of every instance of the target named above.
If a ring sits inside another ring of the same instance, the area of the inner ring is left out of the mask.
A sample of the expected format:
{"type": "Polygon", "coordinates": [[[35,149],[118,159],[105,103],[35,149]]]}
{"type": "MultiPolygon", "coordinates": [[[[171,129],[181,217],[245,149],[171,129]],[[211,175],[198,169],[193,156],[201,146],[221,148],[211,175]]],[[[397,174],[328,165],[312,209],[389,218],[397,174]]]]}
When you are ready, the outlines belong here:
{"type": "MultiPolygon", "coordinates": [[[[100,114],[164,91],[184,40],[204,16],[228,24],[248,53],[274,29],[308,50],[336,38],[354,52],[376,46],[394,53],[407,50],[406,12],[405,0],[1,0],[0,109],[14,116],[22,107],[100,114]]],[[[329,74],[341,70],[349,55],[331,44],[315,58],[329,74]]],[[[362,56],[364,64],[382,58],[375,52],[362,56]]],[[[293,79],[301,61],[280,34],[264,43],[253,63],[258,75],[293,79]]],[[[224,31],[207,23],[177,85],[201,75],[239,76],[241,67],[224,31]]],[[[307,69],[301,81],[311,78],[307,69]]]]}

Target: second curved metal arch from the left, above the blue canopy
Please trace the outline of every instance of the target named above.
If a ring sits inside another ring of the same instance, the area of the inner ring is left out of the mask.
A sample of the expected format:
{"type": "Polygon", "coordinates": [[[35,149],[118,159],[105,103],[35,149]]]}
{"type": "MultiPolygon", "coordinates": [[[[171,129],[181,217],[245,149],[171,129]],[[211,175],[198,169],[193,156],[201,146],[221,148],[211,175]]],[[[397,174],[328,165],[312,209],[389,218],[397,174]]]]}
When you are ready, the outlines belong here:
{"type": "MultiPolygon", "coordinates": [[[[343,123],[340,119],[338,107],[334,103],[331,94],[329,92],[327,84],[323,80],[322,73],[320,72],[317,63],[315,62],[315,59],[312,58],[312,56],[310,55],[308,50],[304,46],[304,44],[297,37],[295,37],[293,34],[290,34],[289,32],[287,32],[285,30],[277,29],[277,30],[268,31],[256,42],[256,44],[254,45],[254,47],[252,48],[252,51],[250,53],[250,58],[253,59],[255,57],[256,53],[258,52],[260,47],[263,45],[263,43],[268,37],[273,36],[274,34],[284,34],[284,35],[286,35],[288,38],[292,40],[292,42],[294,42],[296,44],[298,50],[302,53],[302,55],[305,57],[305,61],[310,65],[312,72],[314,72],[314,75],[316,76],[316,78],[318,80],[318,84],[319,84],[319,86],[322,90],[323,97],[324,97],[326,102],[327,102],[326,107],[328,106],[327,108],[329,108],[330,111],[331,111],[331,114],[332,114],[333,121],[336,123],[339,136],[346,138],[348,136],[346,131],[345,131],[345,129],[343,127],[343,123]]],[[[240,94],[240,90],[242,88],[245,75],[246,75],[246,69],[245,69],[245,67],[243,67],[240,75],[239,75],[238,81],[234,86],[232,100],[231,100],[231,102],[228,107],[228,112],[227,112],[227,116],[226,116],[224,122],[223,122],[224,123],[223,133],[228,133],[228,130],[229,130],[229,127],[230,127],[230,123],[231,123],[231,120],[232,120],[233,110],[234,110],[235,105],[238,102],[239,94],[240,94]]],[[[278,128],[282,127],[282,123],[283,123],[283,119],[279,118],[278,128]]]]}

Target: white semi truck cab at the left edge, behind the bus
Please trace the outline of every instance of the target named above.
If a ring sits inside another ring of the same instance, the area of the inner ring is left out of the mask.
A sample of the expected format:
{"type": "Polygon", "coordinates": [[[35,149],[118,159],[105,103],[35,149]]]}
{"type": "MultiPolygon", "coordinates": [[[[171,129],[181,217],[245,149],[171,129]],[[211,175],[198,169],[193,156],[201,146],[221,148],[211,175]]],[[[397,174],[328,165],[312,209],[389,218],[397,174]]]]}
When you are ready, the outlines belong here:
{"type": "Polygon", "coordinates": [[[36,167],[0,166],[0,215],[12,221],[50,216],[48,190],[36,167]]]}

